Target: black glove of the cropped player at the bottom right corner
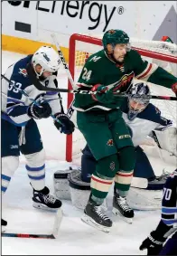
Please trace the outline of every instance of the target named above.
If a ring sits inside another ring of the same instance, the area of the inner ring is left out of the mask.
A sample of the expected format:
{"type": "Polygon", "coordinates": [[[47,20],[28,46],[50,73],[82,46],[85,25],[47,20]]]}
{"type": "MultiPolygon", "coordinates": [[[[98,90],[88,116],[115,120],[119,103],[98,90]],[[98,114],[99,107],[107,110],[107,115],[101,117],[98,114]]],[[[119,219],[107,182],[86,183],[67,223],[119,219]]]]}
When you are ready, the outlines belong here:
{"type": "Polygon", "coordinates": [[[143,251],[144,249],[147,249],[147,255],[158,255],[163,249],[163,242],[165,241],[166,238],[160,238],[155,231],[151,232],[144,242],[142,242],[139,250],[143,251]]]}

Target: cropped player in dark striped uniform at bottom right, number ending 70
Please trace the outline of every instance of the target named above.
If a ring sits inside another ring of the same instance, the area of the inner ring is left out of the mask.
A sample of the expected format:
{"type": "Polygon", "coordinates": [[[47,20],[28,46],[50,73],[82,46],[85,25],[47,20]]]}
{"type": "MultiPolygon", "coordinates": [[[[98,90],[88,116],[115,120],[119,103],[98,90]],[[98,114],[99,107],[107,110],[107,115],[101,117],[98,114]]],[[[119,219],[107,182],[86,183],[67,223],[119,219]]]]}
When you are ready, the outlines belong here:
{"type": "Polygon", "coordinates": [[[147,249],[147,255],[177,255],[177,169],[163,187],[161,221],[139,249],[147,249]]]}

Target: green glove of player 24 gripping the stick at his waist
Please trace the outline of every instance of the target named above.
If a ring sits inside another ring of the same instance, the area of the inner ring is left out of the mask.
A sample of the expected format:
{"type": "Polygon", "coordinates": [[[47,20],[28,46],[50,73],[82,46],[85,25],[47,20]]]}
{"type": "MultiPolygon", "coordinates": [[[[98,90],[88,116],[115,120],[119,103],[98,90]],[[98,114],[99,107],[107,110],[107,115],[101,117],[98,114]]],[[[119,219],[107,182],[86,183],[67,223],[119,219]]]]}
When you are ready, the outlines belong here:
{"type": "Polygon", "coordinates": [[[93,100],[98,100],[105,104],[112,103],[115,100],[113,90],[109,90],[107,86],[96,84],[91,90],[98,92],[97,94],[92,94],[93,100]]]}

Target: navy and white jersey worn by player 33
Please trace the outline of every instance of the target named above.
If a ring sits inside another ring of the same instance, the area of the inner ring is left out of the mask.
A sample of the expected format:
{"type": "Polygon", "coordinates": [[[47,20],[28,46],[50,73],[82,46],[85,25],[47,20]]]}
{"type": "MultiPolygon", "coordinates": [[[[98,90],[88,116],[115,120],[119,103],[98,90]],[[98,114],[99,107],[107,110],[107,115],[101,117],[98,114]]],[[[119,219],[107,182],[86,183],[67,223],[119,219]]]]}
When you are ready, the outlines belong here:
{"type": "MultiPolygon", "coordinates": [[[[14,82],[15,87],[2,79],[2,119],[5,119],[15,126],[23,127],[31,118],[27,115],[27,109],[33,100],[45,100],[51,106],[52,114],[61,112],[61,97],[59,92],[38,90],[26,71],[27,64],[31,62],[33,55],[15,62],[7,71],[5,77],[14,82]],[[24,96],[18,89],[25,90],[29,98],[24,96]]],[[[52,75],[45,81],[44,86],[57,87],[56,76],[52,75]]]]}

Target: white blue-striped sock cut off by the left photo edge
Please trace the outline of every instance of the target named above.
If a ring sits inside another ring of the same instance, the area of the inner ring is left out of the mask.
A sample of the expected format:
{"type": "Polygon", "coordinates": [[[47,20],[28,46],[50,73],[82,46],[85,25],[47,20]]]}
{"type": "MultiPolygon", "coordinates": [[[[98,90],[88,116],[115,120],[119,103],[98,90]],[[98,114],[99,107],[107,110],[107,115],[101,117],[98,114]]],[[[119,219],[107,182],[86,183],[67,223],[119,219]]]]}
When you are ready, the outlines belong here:
{"type": "Polygon", "coordinates": [[[10,183],[11,177],[14,175],[15,170],[19,166],[18,156],[5,156],[2,157],[2,184],[1,191],[5,194],[5,191],[10,183]]]}

